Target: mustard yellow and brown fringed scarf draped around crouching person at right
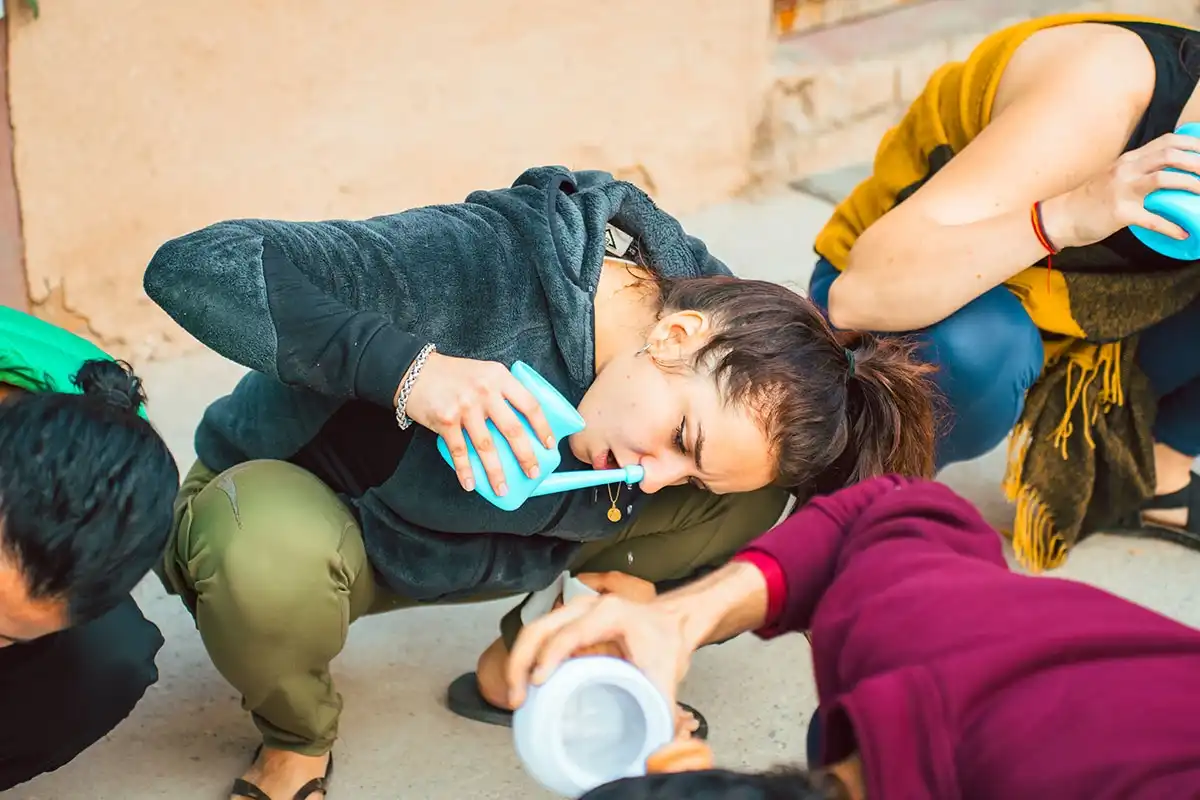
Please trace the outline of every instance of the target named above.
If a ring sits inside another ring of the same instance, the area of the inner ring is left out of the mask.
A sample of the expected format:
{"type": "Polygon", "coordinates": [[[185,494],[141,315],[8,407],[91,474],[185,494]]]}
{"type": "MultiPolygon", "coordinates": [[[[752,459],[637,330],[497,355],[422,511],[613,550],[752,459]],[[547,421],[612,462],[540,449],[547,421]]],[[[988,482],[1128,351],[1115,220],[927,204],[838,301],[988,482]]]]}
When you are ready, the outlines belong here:
{"type": "MultiPolygon", "coordinates": [[[[874,174],[838,205],[818,234],[817,253],[838,270],[846,269],[858,236],[988,126],[1001,77],[1016,49],[1038,31],[1079,23],[1151,23],[1187,30],[1150,17],[1079,13],[1030,19],[992,34],[965,61],[947,64],[930,77],[904,119],[880,143],[874,174]]],[[[1073,313],[1073,291],[1088,294],[1084,277],[1076,273],[1079,285],[1073,289],[1061,270],[1030,266],[1004,282],[1039,330],[1058,335],[1044,339],[1043,374],[1030,390],[1009,439],[1003,483],[1004,493],[1016,504],[1009,531],[1013,547],[1019,560],[1033,570],[1060,565],[1069,543],[1078,539],[1093,495],[1064,487],[1076,476],[1094,481],[1097,470],[1108,469],[1098,462],[1111,452],[1098,452],[1097,437],[1140,431],[1138,414],[1124,408],[1130,401],[1123,374],[1128,367],[1122,365],[1128,363],[1132,350],[1123,348],[1122,341],[1088,341],[1075,318],[1080,309],[1073,313]],[[1117,416],[1105,419],[1098,433],[1094,425],[1102,414],[1117,416]],[[1074,462],[1069,467],[1068,459],[1074,462]],[[1063,470],[1069,470],[1066,479],[1063,470]]],[[[1145,477],[1128,475],[1129,467],[1121,463],[1122,476],[1145,477]]]]}

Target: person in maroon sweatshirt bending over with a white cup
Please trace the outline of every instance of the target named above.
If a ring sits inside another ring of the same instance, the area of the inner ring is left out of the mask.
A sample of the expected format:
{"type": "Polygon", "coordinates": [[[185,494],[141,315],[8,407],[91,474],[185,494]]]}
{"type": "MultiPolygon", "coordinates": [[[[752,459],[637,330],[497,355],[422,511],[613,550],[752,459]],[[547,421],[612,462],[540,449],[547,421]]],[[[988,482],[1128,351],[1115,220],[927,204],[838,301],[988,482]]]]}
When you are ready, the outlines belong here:
{"type": "MultiPolygon", "coordinates": [[[[810,632],[814,775],[650,775],[587,800],[1157,800],[1200,788],[1200,631],[1084,583],[1013,572],[974,506],[924,479],[817,498],[649,602],[565,603],[517,637],[509,700],[518,708],[530,682],[601,644],[673,698],[698,646],[746,631],[810,632]]],[[[703,742],[665,751],[647,768],[710,766],[703,742]]]]}

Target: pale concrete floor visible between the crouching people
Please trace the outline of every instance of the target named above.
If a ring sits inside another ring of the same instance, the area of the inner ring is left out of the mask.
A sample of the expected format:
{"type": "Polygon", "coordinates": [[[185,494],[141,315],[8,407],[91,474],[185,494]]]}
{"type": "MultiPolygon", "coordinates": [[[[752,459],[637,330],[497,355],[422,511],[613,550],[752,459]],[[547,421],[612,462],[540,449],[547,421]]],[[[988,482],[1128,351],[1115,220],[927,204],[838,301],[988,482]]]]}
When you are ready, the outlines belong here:
{"type": "MultiPolygon", "coordinates": [[[[690,231],[739,273],[804,287],[814,235],[830,206],[802,193],[738,201],[692,215],[690,231]]],[[[210,354],[142,369],[151,416],[186,469],[203,408],[240,371],[210,354]]],[[[942,476],[1007,525],[1000,494],[1003,453],[942,476]]],[[[1098,536],[1058,575],[1094,583],[1189,625],[1200,625],[1200,558],[1156,542],[1098,536]]],[[[223,798],[256,746],[239,698],[205,656],[191,618],[145,582],[138,600],[164,632],[161,681],[107,740],[53,775],[4,793],[22,800],[223,798]]],[[[446,684],[474,667],[509,603],[428,608],[358,622],[335,664],[346,697],[332,796],[484,800],[547,796],[529,781],[510,732],[468,722],[443,705],[446,684]]],[[[766,768],[803,760],[816,696],[803,637],[763,644],[742,637],[697,656],[682,699],[712,726],[722,765],[766,768]]]]}

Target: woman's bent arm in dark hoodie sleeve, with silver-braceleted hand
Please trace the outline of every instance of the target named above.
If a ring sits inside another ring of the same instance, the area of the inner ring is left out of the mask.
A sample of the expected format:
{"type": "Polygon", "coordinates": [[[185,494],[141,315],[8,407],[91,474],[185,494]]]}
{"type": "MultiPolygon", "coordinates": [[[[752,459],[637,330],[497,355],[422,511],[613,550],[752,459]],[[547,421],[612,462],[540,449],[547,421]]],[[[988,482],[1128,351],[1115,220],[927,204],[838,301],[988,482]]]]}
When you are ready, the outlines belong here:
{"type": "MultiPolygon", "coordinates": [[[[463,206],[361,222],[222,222],[163,245],[145,289],[227,359],[289,386],[392,408],[426,345],[419,331],[476,324],[476,297],[503,294],[503,265],[521,257],[506,243],[508,224],[463,206]]],[[[469,491],[484,477],[472,469],[463,429],[492,488],[504,486],[487,421],[533,470],[536,457],[512,409],[540,440],[551,441],[552,432],[529,391],[500,363],[427,357],[404,413],[445,438],[462,486],[469,491]]]]}

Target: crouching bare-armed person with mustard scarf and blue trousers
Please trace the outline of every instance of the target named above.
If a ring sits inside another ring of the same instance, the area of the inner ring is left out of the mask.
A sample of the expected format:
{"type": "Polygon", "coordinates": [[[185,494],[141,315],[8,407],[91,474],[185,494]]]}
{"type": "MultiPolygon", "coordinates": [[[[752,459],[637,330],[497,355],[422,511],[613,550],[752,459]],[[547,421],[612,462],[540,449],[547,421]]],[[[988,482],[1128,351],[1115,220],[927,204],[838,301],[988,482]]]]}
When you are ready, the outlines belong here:
{"type": "Polygon", "coordinates": [[[1097,531],[1200,549],[1200,261],[1130,229],[1187,237],[1145,199],[1200,193],[1198,78],[1193,28],[1022,19],[932,72],[817,235],[834,325],[936,365],[938,467],[1009,440],[1028,569],[1097,531]]]}

